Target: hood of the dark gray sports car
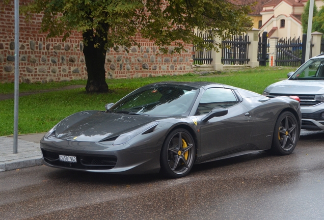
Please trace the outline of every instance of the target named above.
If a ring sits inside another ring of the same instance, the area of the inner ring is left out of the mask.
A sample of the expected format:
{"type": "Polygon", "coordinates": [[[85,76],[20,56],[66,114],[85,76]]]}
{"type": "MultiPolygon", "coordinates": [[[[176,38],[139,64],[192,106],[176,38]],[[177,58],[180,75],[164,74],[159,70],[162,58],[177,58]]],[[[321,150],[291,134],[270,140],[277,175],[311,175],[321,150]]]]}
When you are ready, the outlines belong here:
{"type": "Polygon", "coordinates": [[[75,113],[56,126],[56,137],[63,140],[99,142],[137,129],[161,117],[114,114],[99,111],[75,113]]]}

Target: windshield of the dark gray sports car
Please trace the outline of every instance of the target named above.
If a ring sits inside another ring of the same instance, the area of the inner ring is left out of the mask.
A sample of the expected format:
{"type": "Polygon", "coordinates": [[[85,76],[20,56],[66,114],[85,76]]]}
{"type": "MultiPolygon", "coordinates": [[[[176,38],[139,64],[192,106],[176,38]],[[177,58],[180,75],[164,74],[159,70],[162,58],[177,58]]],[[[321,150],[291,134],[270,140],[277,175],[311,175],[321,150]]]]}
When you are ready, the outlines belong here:
{"type": "Polygon", "coordinates": [[[187,86],[143,87],[118,101],[110,112],[159,116],[189,114],[198,92],[198,89],[187,86]]]}

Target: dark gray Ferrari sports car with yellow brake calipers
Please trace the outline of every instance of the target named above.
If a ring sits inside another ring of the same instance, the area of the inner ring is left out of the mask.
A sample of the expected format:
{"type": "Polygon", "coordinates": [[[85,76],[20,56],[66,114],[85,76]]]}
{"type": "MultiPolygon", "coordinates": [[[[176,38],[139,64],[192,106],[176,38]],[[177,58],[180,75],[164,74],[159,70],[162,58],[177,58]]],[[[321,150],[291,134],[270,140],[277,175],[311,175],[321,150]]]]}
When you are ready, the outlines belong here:
{"type": "MultiPolygon", "coordinates": [[[[297,98],[298,99],[298,98],[297,98]]],[[[298,100],[211,82],[158,82],[106,111],[75,113],[45,134],[43,163],[79,171],[183,177],[195,163],[254,151],[290,154],[298,100]]]]}

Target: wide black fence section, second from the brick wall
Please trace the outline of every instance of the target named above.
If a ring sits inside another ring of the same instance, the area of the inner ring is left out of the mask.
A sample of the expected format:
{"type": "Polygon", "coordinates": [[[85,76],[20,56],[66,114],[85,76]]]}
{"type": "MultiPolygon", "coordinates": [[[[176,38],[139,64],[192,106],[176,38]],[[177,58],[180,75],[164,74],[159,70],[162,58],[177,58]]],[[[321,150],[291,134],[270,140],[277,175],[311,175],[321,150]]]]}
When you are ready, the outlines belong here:
{"type": "Polygon", "coordinates": [[[235,35],[222,41],[222,64],[224,65],[244,65],[248,64],[249,36],[235,35]]]}

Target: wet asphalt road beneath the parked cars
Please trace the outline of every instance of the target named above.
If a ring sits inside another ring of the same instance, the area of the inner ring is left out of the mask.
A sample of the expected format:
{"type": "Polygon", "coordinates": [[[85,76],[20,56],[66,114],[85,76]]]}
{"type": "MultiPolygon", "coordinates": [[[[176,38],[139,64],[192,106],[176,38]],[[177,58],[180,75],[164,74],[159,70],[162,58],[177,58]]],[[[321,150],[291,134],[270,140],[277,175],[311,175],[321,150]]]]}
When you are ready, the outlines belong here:
{"type": "Polygon", "coordinates": [[[324,219],[324,132],[288,156],[196,165],[180,179],[38,166],[0,173],[1,219],[324,219]]]}

